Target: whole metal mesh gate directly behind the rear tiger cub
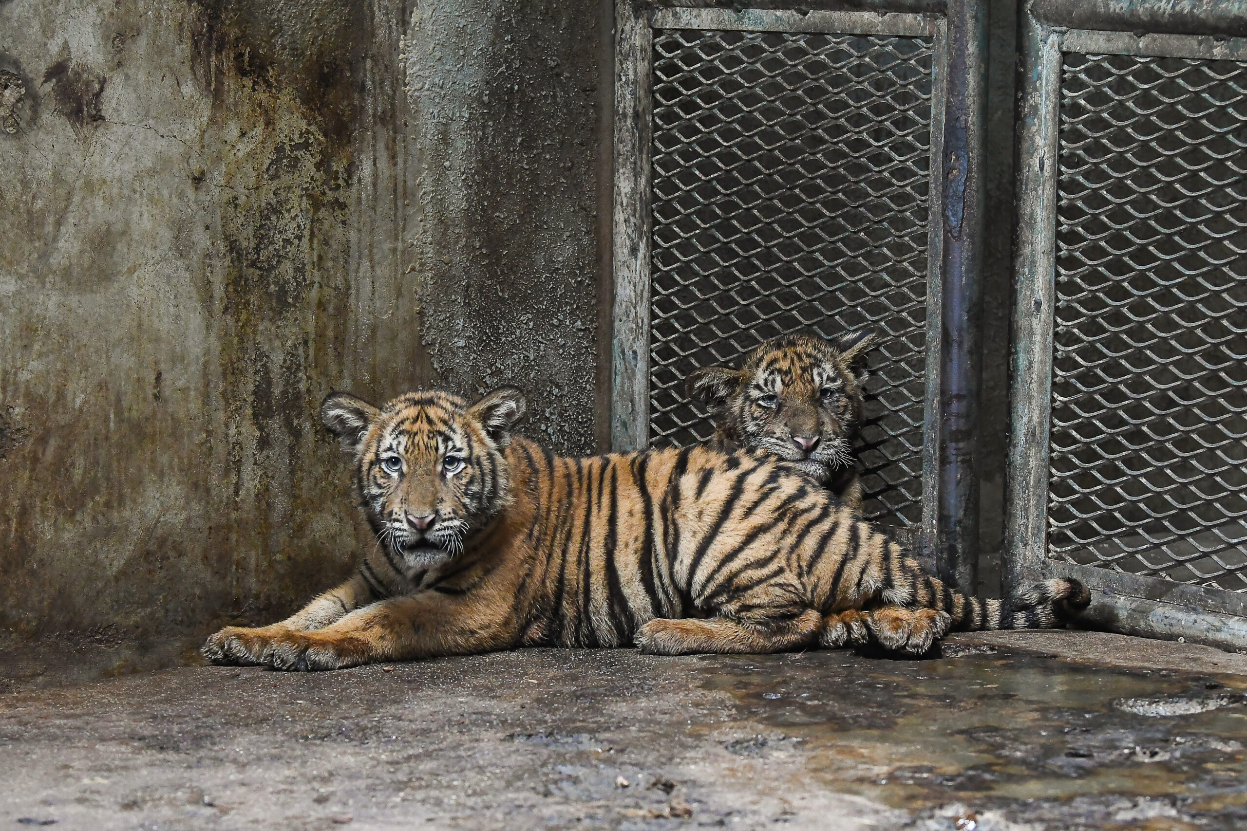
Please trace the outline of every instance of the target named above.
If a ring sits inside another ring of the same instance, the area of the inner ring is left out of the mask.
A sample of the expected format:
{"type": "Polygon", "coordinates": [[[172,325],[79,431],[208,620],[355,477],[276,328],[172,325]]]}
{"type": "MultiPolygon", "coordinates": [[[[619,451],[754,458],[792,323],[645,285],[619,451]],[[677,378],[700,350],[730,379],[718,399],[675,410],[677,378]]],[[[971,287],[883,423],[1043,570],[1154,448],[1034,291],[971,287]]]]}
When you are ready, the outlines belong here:
{"type": "Polygon", "coordinates": [[[869,328],[864,512],[973,591],[980,56],[950,80],[941,14],[621,2],[617,32],[615,449],[708,439],[700,366],[869,328]]]}

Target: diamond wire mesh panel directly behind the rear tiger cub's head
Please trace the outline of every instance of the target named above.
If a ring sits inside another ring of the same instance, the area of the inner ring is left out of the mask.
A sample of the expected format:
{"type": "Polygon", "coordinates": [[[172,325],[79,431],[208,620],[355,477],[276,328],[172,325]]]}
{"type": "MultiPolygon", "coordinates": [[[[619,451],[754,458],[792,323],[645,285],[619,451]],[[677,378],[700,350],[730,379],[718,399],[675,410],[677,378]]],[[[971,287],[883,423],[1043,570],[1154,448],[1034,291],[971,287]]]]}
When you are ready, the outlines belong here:
{"type": "Polygon", "coordinates": [[[712,434],[693,369],[869,328],[863,507],[920,520],[932,60],[924,37],[655,32],[652,444],[712,434]]]}

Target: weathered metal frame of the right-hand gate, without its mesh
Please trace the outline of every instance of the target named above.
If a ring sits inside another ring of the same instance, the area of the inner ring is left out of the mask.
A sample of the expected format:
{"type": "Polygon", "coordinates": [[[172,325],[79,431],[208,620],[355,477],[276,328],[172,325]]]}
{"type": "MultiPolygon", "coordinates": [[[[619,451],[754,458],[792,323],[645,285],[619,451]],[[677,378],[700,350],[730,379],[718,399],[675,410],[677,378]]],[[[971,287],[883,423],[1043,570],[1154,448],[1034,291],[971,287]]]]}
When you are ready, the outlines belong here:
{"type": "MultiPolygon", "coordinates": [[[[1151,5],[1166,4],[1137,4],[1127,10],[1130,14],[1106,2],[1079,7],[1061,0],[1035,0],[1029,5],[1021,25],[1019,78],[1005,588],[1033,579],[1075,577],[1092,589],[1092,605],[1085,613],[1091,623],[1147,637],[1183,637],[1222,648],[1247,647],[1247,594],[1060,562],[1047,556],[1062,52],[1245,61],[1247,39],[1217,34],[1218,25],[1230,31],[1243,27],[1243,4],[1208,2],[1222,10],[1233,6],[1238,14],[1220,21],[1198,20],[1203,34],[1140,31],[1145,24],[1162,25],[1163,10],[1151,5]],[[1062,10],[1069,11],[1066,17],[1076,10],[1080,21],[1124,30],[1066,29],[1059,25],[1062,10]],[[1092,12],[1100,16],[1089,19],[1092,12]]],[[[1187,30],[1188,24],[1183,22],[1187,30]]]]}

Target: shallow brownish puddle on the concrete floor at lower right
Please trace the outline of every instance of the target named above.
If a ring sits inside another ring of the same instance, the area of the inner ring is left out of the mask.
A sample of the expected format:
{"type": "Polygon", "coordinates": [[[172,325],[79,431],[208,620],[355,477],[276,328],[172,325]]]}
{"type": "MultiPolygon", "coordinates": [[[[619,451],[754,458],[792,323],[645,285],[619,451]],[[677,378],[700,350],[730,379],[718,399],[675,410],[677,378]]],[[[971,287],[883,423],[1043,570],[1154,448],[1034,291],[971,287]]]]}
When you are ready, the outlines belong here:
{"type": "Polygon", "coordinates": [[[1096,827],[1247,822],[1241,677],[1006,649],[925,660],[844,652],[702,660],[713,667],[707,689],[731,693],[738,718],[774,731],[728,750],[799,748],[807,772],[829,790],[910,810],[1084,805],[1100,811],[1085,817],[1096,827]],[[1116,814],[1104,815],[1112,805],[1116,814]]]}

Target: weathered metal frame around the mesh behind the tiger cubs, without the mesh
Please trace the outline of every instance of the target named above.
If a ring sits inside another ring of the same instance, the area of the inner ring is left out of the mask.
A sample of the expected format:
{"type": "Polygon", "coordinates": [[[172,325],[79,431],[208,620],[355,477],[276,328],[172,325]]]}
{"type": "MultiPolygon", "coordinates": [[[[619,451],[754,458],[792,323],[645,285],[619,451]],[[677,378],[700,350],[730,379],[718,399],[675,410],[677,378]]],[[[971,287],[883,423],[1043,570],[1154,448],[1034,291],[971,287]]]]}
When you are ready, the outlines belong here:
{"type": "Polygon", "coordinates": [[[648,444],[651,61],[653,29],[933,39],[923,518],[915,553],[975,592],[981,328],[985,2],[948,14],[616,5],[615,297],[611,447],[648,444]]]}

